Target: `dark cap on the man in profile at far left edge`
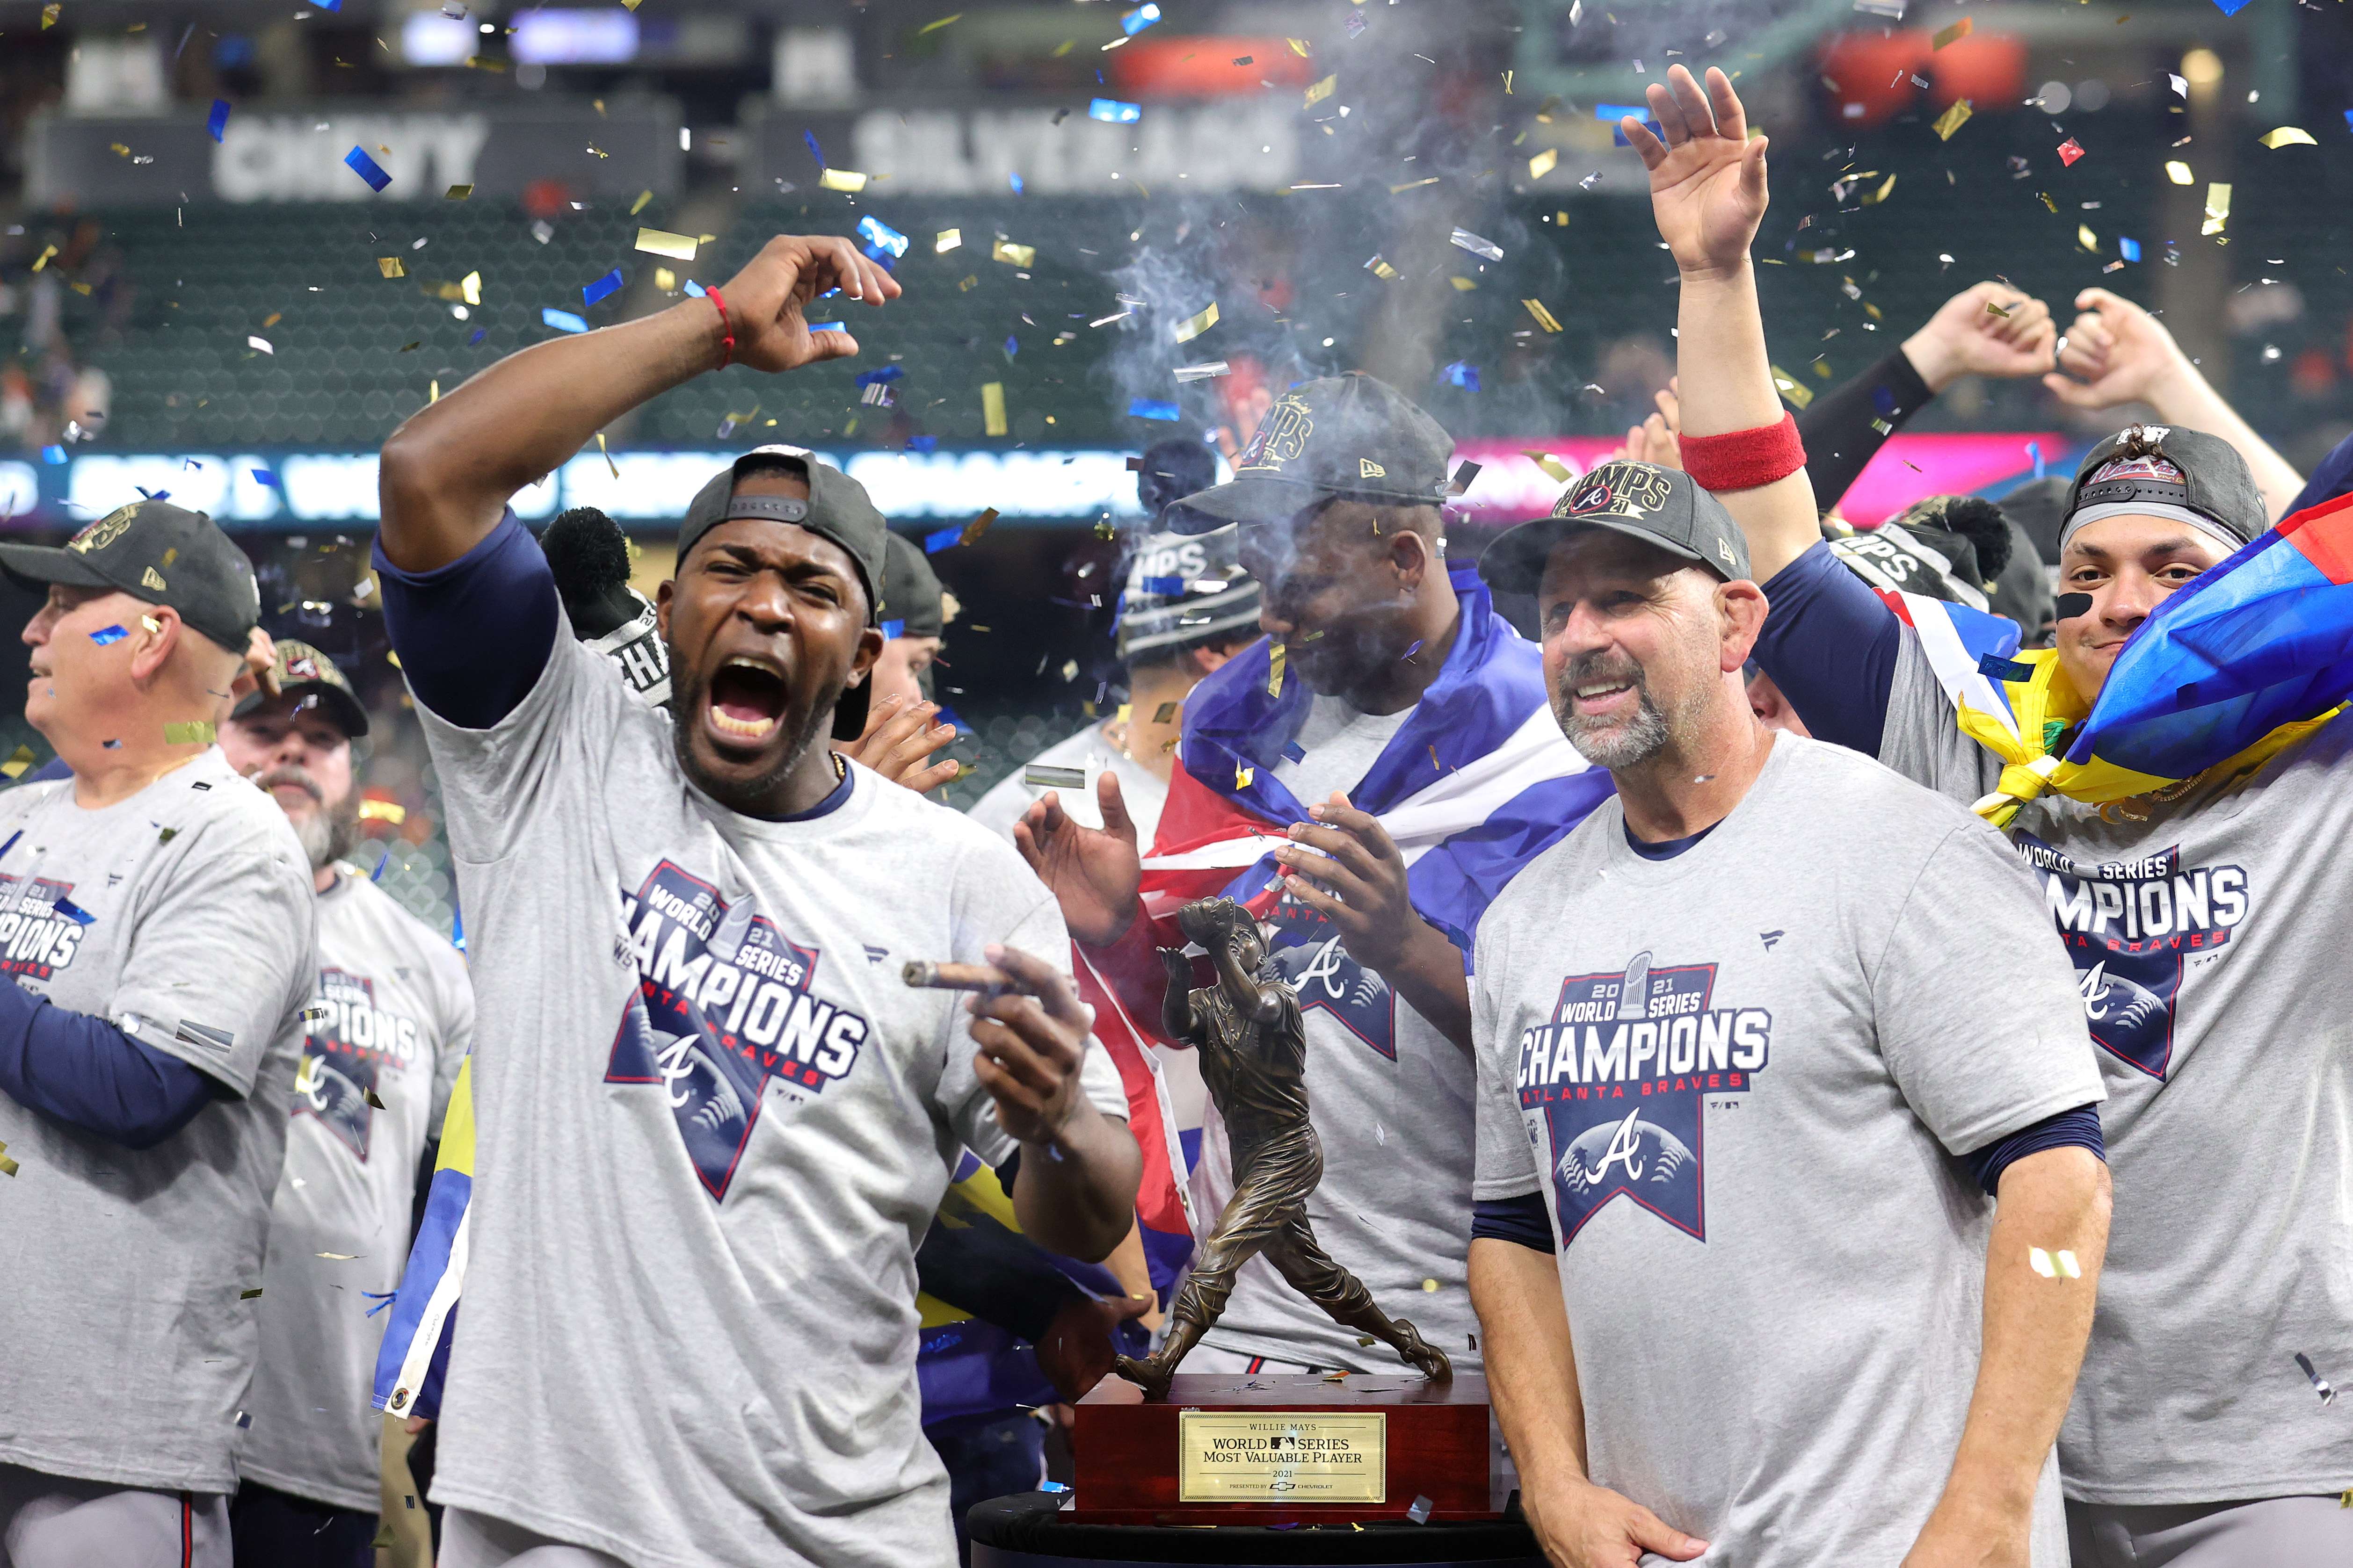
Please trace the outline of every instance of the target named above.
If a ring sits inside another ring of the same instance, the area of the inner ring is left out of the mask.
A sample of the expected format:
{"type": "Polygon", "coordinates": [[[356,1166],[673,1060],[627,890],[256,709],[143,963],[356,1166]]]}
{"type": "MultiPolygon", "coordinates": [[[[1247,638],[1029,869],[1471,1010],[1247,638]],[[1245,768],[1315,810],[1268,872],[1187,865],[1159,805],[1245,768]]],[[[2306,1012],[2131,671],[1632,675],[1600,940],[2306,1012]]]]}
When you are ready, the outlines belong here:
{"type": "Polygon", "coordinates": [[[0,545],[0,571],[26,585],[120,588],[162,604],[221,651],[245,654],[261,623],[254,564],[205,512],[132,501],[52,545],[0,545]]]}

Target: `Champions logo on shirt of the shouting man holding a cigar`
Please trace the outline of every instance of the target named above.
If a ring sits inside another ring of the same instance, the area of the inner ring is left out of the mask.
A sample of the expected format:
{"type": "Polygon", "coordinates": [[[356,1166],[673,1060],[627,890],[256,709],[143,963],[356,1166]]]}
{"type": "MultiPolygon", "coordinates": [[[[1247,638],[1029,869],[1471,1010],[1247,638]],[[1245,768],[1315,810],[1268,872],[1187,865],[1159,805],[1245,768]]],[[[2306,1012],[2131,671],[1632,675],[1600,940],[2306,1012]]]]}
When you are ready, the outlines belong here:
{"type": "Polygon", "coordinates": [[[849,1074],[866,1018],[812,992],[816,947],[786,940],[751,900],[664,860],[621,896],[621,952],[638,990],[621,1011],[607,1084],[659,1084],[713,1201],[727,1197],[774,1079],[802,1105],[849,1074]]]}

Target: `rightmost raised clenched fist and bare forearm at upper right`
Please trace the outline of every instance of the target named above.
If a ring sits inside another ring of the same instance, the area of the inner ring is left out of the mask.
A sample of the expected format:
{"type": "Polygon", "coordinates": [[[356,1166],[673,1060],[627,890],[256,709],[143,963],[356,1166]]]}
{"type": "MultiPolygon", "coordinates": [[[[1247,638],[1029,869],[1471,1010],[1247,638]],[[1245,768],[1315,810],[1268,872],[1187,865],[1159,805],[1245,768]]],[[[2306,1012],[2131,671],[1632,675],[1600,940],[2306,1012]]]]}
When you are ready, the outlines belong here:
{"type": "Polygon", "coordinates": [[[2113,409],[2146,402],[2167,425],[2205,430],[2238,447],[2264,491],[2264,508],[2278,522],[2287,515],[2304,477],[2238,416],[2221,393],[2191,364],[2165,322],[2120,294],[2085,289],[2075,296],[2075,324],[2066,329],[2059,371],[2042,386],[2075,409],[2113,409]]]}

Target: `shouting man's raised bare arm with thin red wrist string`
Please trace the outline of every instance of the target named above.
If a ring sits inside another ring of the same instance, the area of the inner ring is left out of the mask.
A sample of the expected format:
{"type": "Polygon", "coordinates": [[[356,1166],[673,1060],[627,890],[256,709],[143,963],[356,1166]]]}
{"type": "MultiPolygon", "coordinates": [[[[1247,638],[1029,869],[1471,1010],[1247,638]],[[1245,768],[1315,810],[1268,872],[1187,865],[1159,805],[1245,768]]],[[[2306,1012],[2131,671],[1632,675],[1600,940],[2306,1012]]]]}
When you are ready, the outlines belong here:
{"type": "Polygon", "coordinates": [[[704,299],[499,360],[419,409],[384,444],[386,559],[402,571],[459,559],[496,527],[508,496],[598,430],[729,362],[729,334],[732,362],[765,371],[854,355],[847,331],[812,334],[802,320],[802,306],[833,287],[868,306],[899,294],[892,275],[840,235],[776,235],[704,299]]]}

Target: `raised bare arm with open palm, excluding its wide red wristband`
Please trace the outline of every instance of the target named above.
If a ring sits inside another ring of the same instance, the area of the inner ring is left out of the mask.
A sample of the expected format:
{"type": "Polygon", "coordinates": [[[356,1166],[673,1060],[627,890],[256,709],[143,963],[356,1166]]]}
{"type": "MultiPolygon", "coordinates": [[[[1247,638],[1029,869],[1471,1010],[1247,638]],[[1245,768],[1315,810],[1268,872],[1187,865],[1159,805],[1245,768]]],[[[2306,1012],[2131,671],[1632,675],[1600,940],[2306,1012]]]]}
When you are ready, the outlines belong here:
{"type": "MultiPolygon", "coordinates": [[[[1675,369],[1682,386],[1685,468],[1692,442],[1781,423],[1781,395],[1765,353],[1748,247],[1765,221],[1765,136],[1748,134],[1741,99],[1722,71],[1708,85],[1682,66],[1649,87],[1654,136],[1631,115],[1619,122],[1649,169],[1649,207],[1659,237],[1682,273],[1675,369]]],[[[1767,581],[1821,538],[1814,487],[1805,468],[1769,484],[1718,494],[1748,536],[1755,581],[1767,581]]]]}

